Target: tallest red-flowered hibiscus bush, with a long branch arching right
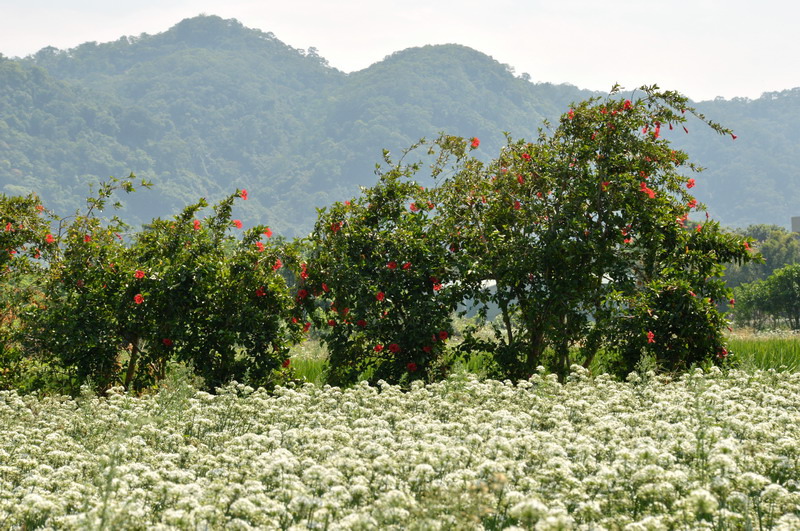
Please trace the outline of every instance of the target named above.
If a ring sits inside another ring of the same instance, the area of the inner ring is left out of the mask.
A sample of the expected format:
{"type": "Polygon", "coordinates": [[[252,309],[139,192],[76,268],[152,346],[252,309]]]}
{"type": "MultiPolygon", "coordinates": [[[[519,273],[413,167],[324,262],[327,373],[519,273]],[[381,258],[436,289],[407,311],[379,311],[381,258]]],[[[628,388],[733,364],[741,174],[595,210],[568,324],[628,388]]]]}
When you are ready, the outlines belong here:
{"type": "Polygon", "coordinates": [[[730,297],[721,264],[754,256],[713,222],[687,229],[702,208],[687,191],[695,179],[685,173],[697,169],[661,128],[683,124],[688,111],[730,131],[685,97],[640,90],[634,101],[615,88],[582,102],[535,142],[509,138],[488,163],[456,152],[459,164],[436,189],[461,289],[500,310],[496,341],[479,346],[504,376],[544,364],[563,377],[600,351],[613,353],[620,374],[642,352],[679,370],[725,348],[713,303],[730,297]]]}

